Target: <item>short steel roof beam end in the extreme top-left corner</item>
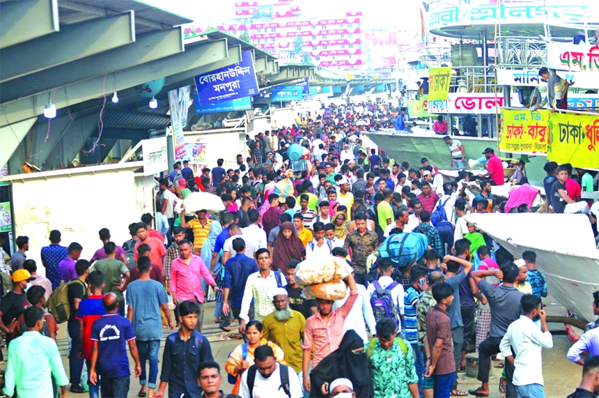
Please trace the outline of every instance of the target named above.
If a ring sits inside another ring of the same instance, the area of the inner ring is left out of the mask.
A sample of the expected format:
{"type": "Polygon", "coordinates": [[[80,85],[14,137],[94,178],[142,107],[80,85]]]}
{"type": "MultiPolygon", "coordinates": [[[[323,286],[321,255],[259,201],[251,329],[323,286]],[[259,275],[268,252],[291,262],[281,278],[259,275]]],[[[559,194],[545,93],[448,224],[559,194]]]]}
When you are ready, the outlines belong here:
{"type": "Polygon", "coordinates": [[[0,4],[0,49],[59,30],[58,0],[5,1],[0,4]]]}

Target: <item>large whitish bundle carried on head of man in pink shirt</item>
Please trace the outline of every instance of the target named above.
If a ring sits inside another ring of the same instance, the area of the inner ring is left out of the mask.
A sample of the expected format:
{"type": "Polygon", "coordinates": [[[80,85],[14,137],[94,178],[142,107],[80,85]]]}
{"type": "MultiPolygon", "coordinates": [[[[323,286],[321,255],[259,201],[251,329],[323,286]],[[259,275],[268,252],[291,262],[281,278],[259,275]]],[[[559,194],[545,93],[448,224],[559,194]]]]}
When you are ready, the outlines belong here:
{"type": "Polygon", "coordinates": [[[302,261],[295,268],[293,279],[299,286],[322,282],[340,282],[352,273],[352,268],[344,259],[334,256],[317,256],[302,261]]]}

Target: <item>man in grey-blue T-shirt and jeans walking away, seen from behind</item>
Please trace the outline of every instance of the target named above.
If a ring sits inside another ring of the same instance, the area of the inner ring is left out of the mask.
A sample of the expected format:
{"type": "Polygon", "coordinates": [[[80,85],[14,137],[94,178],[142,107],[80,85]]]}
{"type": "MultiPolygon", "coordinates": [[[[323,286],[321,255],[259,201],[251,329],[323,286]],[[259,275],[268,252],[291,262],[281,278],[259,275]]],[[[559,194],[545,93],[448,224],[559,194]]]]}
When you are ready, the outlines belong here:
{"type": "Polygon", "coordinates": [[[173,322],[169,314],[169,298],[166,296],[164,286],[160,282],[150,279],[152,265],[149,257],[139,257],[137,261],[139,279],[127,286],[127,318],[133,325],[137,337],[137,349],[141,362],[141,376],[139,376],[139,396],[146,395],[146,385],[149,395],[156,389],[158,377],[158,349],[162,339],[162,318],[160,309],[166,315],[169,328],[173,329],[173,322]],[[150,377],[146,376],[146,360],[150,361],[150,377]]]}

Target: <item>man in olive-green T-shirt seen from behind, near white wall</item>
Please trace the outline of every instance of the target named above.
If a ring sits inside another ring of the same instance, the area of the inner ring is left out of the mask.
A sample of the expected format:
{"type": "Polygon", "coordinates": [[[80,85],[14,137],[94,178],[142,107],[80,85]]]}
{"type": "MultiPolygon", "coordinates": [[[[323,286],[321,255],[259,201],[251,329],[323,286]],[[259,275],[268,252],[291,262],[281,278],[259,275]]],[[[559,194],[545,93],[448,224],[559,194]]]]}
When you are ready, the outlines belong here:
{"type": "Polygon", "coordinates": [[[116,245],[113,242],[104,243],[104,252],[108,256],[106,259],[98,260],[93,264],[93,270],[98,270],[104,275],[104,289],[102,293],[114,293],[118,299],[118,313],[125,316],[125,296],[123,291],[129,283],[129,268],[123,261],[117,260],[116,245]],[[124,278],[124,279],[122,279],[124,278]]]}

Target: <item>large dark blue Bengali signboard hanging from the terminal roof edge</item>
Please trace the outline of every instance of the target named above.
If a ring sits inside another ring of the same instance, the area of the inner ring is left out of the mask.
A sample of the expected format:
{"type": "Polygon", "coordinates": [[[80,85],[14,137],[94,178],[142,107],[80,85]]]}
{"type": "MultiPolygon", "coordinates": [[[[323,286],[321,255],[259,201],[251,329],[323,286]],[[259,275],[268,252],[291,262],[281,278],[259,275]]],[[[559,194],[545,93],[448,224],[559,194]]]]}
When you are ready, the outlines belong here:
{"type": "Polygon", "coordinates": [[[258,80],[250,51],[242,53],[242,61],[196,76],[199,103],[210,105],[258,95],[258,80]]]}

